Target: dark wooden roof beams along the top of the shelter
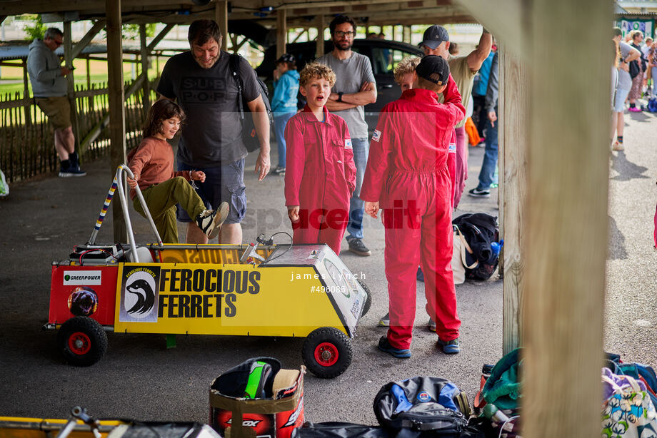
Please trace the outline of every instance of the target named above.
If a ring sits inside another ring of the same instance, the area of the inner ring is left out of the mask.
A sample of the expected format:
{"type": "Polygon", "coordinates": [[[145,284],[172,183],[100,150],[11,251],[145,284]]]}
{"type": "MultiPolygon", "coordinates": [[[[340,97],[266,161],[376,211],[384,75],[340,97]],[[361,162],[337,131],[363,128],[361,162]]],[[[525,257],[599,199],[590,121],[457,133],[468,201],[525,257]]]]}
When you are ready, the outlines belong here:
{"type": "MultiPolygon", "coordinates": [[[[184,24],[199,18],[214,19],[216,2],[208,0],[122,0],[124,23],[184,24]]],[[[21,0],[0,2],[0,16],[18,14],[66,14],[73,20],[104,19],[104,0],[21,0]]],[[[252,20],[275,26],[279,11],[285,11],[288,26],[314,26],[316,16],[347,14],[362,24],[474,23],[473,16],[452,0],[240,0],[226,2],[229,19],[252,20]]]]}

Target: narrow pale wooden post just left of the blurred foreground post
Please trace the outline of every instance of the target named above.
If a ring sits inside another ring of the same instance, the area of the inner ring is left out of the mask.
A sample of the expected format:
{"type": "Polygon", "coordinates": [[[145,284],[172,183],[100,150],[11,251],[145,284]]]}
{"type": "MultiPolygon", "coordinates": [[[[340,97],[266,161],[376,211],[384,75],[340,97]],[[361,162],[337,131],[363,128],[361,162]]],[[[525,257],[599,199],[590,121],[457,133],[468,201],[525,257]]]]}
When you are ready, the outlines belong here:
{"type": "Polygon", "coordinates": [[[498,49],[498,139],[500,168],[500,235],[504,239],[501,270],[504,272],[502,351],[522,345],[522,303],[525,258],[523,206],[527,197],[527,145],[529,143],[529,77],[524,63],[498,49]]]}

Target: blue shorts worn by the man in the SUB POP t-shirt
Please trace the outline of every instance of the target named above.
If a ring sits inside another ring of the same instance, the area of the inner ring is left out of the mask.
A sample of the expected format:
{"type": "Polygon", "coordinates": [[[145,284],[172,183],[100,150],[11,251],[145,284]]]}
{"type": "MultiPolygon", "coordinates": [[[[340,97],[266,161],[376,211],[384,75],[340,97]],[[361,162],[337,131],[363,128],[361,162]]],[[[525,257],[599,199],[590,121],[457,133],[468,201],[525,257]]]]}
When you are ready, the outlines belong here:
{"type": "MultiPolygon", "coordinates": [[[[246,215],[246,185],[244,185],[244,158],[217,168],[199,168],[178,163],[178,170],[201,170],[206,174],[204,183],[194,181],[206,208],[215,209],[223,201],[229,203],[231,211],[224,223],[241,223],[246,215]]],[[[178,206],[176,218],[179,222],[192,222],[189,215],[178,206]]]]}

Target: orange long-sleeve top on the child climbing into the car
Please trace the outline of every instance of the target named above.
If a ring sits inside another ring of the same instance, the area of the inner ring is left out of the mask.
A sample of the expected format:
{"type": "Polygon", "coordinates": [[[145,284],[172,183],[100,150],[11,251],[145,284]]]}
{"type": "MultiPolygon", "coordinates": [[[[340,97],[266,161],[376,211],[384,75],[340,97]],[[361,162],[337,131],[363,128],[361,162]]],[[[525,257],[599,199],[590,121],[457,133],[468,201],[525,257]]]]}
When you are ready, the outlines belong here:
{"type": "MultiPolygon", "coordinates": [[[[144,190],[151,185],[164,183],[176,176],[191,179],[189,170],[174,172],[174,149],[166,140],[146,137],[128,156],[128,167],[134,173],[139,188],[144,190]]],[[[130,190],[134,199],[136,190],[130,190]]]]}

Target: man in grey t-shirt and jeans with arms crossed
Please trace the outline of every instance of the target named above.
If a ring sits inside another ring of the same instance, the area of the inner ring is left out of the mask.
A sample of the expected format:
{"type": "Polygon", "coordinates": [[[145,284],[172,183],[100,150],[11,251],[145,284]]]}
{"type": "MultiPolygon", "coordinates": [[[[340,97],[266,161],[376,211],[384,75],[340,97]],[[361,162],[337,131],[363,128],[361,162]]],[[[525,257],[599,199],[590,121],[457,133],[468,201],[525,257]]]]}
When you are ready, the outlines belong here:
{"type": "Polygon", "coordinates": [[[371,255],[363,243],[363,213],[365,203],[360,198],[363,175],[369,152],[367,123],[364,105],[376,102],[376,82],[372,66],[367,56],[351,51],[356,24],[345,15],[336,16],[331,24],[333,51],[321,56],[317,62],[323,63],[336,73],[336,84],[331,90],[326,109],[343,118],[347,123],[353,161],[356,163],[356,190],[351,195],[347,242],[349,251],[357,255],[371,255]]]}

